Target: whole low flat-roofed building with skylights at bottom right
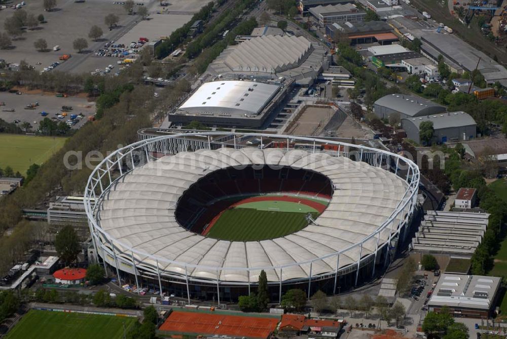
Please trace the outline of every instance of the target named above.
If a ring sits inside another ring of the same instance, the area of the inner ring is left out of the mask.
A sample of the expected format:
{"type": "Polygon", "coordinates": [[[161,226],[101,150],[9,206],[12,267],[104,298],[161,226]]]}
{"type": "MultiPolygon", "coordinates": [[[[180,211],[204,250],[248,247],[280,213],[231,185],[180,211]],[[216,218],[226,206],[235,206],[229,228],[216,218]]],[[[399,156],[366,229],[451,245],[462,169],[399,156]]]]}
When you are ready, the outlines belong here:
{"type": "Polygon", "coordinates": [[[457,318],[489,319],[498,302],[501,278],[443,273],[429,298],[429,311],[444,306],[457,318]]]}

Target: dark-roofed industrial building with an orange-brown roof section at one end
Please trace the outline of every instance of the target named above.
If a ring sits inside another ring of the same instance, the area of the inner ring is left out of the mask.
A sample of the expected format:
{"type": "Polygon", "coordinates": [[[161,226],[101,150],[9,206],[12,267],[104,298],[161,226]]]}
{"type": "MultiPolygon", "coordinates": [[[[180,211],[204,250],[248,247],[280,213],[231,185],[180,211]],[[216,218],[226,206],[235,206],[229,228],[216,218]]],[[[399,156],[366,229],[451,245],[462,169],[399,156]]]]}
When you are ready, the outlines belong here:
{"type": "Polygon", "coordinates": [[[325,32],[335,42],[350,40],[351,45],[379,43],[389,45],[398,41],[391,26],[384,21],[340,22],[325,26],[325,32]]]}

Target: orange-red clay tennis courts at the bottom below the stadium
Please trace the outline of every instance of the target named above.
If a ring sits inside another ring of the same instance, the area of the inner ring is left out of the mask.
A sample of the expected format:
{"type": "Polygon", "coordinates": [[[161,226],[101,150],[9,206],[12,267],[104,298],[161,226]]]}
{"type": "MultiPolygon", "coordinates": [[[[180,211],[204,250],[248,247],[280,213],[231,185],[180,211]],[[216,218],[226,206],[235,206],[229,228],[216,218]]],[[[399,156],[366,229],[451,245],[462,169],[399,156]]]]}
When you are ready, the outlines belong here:
{"type": "Polygon", "coordinates": [[[174,311],[159,330],[176,333],[267,338],[276,329],[279,320],[279,318],[174,311]]]}

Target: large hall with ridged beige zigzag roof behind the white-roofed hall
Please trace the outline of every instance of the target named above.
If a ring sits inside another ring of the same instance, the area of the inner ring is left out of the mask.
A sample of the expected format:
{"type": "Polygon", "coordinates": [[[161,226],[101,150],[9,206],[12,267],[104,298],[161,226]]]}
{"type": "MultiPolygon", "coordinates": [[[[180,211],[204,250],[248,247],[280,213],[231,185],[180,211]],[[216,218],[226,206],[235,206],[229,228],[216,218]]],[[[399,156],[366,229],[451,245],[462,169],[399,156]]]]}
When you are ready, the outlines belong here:
{"type": "Polygon", "coordinates": [[[329,64],[327,48],[304,36],[263,35],[229,46],[207,72],[225,79],[294,79],[296,84],[313,84],[329,64]]]}

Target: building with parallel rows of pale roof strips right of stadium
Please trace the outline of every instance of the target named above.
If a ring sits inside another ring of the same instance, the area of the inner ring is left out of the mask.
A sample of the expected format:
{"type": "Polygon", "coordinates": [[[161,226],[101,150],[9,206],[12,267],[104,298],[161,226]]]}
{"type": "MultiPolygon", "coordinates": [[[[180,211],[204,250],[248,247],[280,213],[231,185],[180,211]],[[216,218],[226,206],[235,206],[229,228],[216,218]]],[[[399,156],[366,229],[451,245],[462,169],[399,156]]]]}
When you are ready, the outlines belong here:
{"type": "Polygon", "coordinates": [[[489,214],[426,211],[412,239],[416,251],[471,256],[488,226],[489,214]]]}

